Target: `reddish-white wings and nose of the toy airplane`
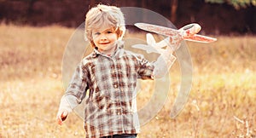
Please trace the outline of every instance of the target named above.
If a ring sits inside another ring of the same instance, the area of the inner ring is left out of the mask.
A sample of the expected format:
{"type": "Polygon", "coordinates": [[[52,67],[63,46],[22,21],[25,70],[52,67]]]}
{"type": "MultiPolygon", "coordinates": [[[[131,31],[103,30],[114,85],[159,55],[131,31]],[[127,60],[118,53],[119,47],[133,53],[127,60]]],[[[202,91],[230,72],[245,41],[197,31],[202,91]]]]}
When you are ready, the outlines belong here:
{"type": "Polygon", "coordinates": [[[158,34],[162,34],[166,37],[170,37],[170,42],[172,43],[179,43],[182,40],[194,41],[199,43],[212,43],[217,40],[213,37],[201,36],[196,34],[201,31],[201,26],[195,23],[183,26],[178,30],[146,23],[136,23],[135,26],[148,32],[155,32],[158,34]]]}

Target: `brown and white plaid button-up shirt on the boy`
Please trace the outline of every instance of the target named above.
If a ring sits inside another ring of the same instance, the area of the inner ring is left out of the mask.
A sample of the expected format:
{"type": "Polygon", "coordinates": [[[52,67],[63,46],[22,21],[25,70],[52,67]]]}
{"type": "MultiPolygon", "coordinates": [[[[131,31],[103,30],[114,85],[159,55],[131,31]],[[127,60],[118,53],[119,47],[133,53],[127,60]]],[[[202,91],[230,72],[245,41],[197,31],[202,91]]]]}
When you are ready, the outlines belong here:
{"type": "Polygon", "coordinates": [[[123,46],[113,56],[102,55],[95,49],[79,64],[61,102],[66,99],[73,109],[85,100],[86,137],[137,134],[137,79],[153,76],[154,64],[123,46]]]}

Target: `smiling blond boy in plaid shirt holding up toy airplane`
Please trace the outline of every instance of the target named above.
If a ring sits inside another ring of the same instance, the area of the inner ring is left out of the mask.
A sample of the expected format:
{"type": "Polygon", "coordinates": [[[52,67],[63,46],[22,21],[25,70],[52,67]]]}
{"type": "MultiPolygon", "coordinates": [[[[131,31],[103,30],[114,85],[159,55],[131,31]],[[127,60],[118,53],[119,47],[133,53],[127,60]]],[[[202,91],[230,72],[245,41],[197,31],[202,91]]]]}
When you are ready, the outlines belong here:
{"type": "MultiPolygon", "coordinates": [[[[99,4],[88,11],[85,36],[94,51],[80,62],[61,98],[58,124],[84,100],[85,137],[137,136],[137,79],[164,76],[176,58],[168,47],[157,61],[150,63],[123,49],[124,34],[125,19],[119,8],[99,4]]],[[[178,47],[179,44],[173,45],[173,49],[178,47]]]]}

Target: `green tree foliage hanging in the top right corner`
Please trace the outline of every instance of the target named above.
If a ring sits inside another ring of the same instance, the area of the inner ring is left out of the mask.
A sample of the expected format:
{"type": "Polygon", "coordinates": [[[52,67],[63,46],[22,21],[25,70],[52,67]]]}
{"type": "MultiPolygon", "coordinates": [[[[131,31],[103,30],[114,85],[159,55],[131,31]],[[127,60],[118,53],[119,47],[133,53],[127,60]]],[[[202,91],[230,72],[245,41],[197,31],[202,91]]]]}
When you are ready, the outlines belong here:
{"type": "Polygon", "coordinates": [[[256,0],[205,0],[207,3],[229,3],[235,9],[245,9],[249,6],[256,6],[256,0]]]}

